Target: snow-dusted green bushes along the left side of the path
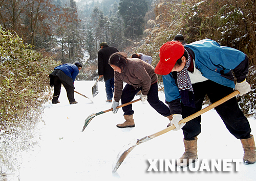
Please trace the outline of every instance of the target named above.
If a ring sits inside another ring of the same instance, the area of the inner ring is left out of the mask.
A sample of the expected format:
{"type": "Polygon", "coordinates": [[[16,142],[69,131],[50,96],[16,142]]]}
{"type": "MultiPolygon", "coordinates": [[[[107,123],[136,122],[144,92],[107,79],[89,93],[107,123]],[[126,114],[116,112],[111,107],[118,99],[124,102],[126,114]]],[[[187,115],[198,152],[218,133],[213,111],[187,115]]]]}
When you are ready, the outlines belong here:
{"type": "Polygon", "coordinates": [[[16,153],[33,145],[31,131],[49,91],[46,73],[57,64],[0,27],[0,163],[10,169],[18,166],[16,153]]]}

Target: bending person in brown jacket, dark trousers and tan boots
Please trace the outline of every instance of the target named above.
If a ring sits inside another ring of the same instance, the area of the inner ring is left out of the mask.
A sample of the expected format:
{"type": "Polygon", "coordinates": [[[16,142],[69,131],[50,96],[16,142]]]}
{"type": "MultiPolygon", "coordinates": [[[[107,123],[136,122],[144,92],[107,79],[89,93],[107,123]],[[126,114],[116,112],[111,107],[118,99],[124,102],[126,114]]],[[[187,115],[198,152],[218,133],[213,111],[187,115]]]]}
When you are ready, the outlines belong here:
{"type": "MultiPolygon", "coordinates": [[[[126,58],[123,52],[112,54],[109,64],[115,73],[115,95],[112,105],[113,113],[117,113],[119,101],[126,104],[133,100],[137,92],[141,90],[141,101],[148,103],[162,116],[172,119],[169,108],[158,98],[157,74],[155,68],[141,59],[126,58]],[[123,88],[123,82],[127,83],[123,88]]],[[[119,128],[134,127],[134,111],[132,105],[122,107],[125,122],[117,124],[119,128]]]]}

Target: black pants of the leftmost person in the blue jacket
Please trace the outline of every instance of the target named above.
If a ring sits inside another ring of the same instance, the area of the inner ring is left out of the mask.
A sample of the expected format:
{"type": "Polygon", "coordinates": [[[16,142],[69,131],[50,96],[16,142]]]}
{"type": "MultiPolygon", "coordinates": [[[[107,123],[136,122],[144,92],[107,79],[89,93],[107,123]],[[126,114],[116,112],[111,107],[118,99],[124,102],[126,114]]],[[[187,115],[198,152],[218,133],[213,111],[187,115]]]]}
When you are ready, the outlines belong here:
{"type": "Polygon", "coordinates": [[[61,84],[65,87],[67,91],[67,96],[69,99],[69,103],[76,101],[74,98],[74,87],[71,87],[69,84],[67,84],[64,81],[61,81],[58,76],[53,76],[54,80],[54,93],[53,93],[53,99],[52,103],[56,104],[58,102],[59,94],[60,94],[60,89],[61,89],[61,84]]]}

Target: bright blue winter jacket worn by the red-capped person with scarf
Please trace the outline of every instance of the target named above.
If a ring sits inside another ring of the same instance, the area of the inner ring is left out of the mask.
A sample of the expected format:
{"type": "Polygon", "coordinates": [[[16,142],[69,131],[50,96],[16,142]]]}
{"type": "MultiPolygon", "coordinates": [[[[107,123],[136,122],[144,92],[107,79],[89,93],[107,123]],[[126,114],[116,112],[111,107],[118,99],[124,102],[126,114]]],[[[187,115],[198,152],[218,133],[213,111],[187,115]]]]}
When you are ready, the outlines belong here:
{"type": "MultiPolygon", "coordinates": [[[[234,77],[231,72],[233,70],[238,82],[245,80],[248,73],[248,59],[242,51],[220,46],[216,41],[210,39],[196,41],[184,45],[184,47],[190,55],[194,53],[194,57],[192,57],[195,60],[195,67],[207,79],[234,88],[234,77]],[[190,53],[191,50],[192,53],[190,53]],[[245,62],[245,60],[247,61],[245,62]]],[[[172,72],[163,75],[163,84],[166,101],[170,102],[180,98],[172,72]]]]}

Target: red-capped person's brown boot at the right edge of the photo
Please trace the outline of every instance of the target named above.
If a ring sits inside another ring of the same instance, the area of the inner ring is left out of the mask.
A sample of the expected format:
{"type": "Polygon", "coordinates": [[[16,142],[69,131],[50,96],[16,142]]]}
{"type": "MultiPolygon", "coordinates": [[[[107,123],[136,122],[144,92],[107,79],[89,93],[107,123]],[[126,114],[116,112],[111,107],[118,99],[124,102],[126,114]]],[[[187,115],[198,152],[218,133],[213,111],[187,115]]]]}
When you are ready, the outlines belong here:
{"type": "Polygon", "coordinates": [[[244,148],[244,164],[254,164],[256,162],[256,152],[253,135],[250,138],[242,139],[241,143],[244,148]]]}

